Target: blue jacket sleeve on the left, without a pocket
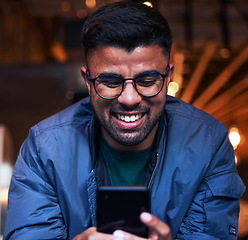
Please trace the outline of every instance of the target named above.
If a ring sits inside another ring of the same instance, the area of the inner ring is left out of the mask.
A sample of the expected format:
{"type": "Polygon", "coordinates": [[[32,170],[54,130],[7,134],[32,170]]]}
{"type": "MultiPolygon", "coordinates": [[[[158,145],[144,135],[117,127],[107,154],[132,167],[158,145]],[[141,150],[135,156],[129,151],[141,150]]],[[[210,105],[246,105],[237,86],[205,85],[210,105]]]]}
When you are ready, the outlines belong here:
{"type": "Polygon", "coordinates": [[[37,142],[31,130],[15,164],[4,240],[67,239],[57,192],[39,158],[37,142]]]}

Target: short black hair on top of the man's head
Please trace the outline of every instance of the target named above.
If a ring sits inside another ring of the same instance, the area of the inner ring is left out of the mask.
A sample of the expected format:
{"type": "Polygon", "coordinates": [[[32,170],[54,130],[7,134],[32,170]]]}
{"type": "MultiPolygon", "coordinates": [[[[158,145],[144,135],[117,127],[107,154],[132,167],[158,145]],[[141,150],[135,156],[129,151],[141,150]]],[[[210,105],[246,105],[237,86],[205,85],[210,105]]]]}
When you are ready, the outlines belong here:
{"type": "Polygon", "coordinates": [[[81,45],[87,56],[98,46],[113,46],[132,52],[138,46],[159,45],[170,55],[170,27],[154,8],[137,2],[114,2],[105,5],[86,20],[81,45]]]}

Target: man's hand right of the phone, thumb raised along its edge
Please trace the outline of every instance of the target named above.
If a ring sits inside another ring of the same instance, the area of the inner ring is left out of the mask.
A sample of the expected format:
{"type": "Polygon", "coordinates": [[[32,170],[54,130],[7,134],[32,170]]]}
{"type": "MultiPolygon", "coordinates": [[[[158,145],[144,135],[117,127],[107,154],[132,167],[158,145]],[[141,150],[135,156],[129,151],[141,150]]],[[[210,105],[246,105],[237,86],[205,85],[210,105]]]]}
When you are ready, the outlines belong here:
{"type": "MultiPolygon", "coordinates": [[[[149,227],[149,240],[173,240],[171,236],[170,227],[157,219],[150,213],[142,213],[140,215],[141,221],[149,227]]],[[[141,240],[143,238],[137,237],[133,234],[117,230],[113,233],[116,237],[114,240],[141,240]]]]}

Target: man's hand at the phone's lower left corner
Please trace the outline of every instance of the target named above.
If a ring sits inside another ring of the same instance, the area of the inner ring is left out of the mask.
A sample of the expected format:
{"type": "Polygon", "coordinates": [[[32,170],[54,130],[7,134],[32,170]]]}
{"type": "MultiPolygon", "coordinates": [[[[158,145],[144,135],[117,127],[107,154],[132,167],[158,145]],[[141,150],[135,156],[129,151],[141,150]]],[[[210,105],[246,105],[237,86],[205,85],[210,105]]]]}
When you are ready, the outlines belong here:
{"type": "Polygon", "coordinates": [[[72,240],[114,240],[112,234],[105,234],[96,231],[96,227],[91,227],[74,237],[72,240]]]}

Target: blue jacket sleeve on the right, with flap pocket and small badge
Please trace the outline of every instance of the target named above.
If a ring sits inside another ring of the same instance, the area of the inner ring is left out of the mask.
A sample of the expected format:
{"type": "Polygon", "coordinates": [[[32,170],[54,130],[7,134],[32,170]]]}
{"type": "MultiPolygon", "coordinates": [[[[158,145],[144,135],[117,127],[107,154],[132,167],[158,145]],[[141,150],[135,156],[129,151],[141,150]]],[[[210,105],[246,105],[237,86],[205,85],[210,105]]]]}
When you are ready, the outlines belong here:
{"type": "MultiPolygon", "coordinates": [[[[220,128],[222,126],[219,125],[220,128]]],[[[207,173],[179,228],[176,239],[234,240],[238,235],[240,179],[228,134],[215,132],[207,173]]]]}

